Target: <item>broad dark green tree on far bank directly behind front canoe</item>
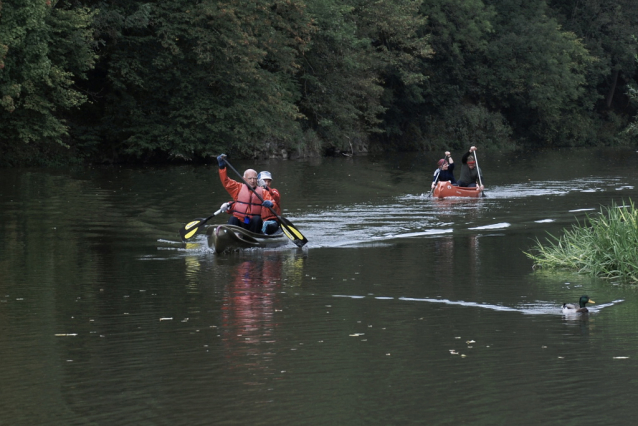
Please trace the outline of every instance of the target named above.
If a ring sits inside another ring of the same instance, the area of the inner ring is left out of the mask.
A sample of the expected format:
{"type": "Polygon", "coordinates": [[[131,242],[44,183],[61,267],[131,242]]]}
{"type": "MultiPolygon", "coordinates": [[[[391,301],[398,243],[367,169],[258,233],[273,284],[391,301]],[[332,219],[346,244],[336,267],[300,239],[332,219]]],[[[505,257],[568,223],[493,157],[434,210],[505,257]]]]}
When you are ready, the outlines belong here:
{"type": "Polygon", "coordinates": [[[121,154],[247,153],[299,133],[293,76],[312,31],[299,2],[130,2],[99,18],[101,125],[121,154]]]}

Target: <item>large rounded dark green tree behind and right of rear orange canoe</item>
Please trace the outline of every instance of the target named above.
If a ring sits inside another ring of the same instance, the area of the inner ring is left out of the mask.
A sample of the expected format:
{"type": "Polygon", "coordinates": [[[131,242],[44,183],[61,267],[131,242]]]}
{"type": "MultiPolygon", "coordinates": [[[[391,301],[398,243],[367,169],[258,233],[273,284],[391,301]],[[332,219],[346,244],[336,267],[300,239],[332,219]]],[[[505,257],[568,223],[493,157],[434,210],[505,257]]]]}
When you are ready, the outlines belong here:
{"type": "Polygon", "coordinates": [[[426,0],[422,10],[436,52],[413,120],[424,145],[504,145],[512,130],[532,143],[589,136],[593,58],[543,1],[426,0]]]}

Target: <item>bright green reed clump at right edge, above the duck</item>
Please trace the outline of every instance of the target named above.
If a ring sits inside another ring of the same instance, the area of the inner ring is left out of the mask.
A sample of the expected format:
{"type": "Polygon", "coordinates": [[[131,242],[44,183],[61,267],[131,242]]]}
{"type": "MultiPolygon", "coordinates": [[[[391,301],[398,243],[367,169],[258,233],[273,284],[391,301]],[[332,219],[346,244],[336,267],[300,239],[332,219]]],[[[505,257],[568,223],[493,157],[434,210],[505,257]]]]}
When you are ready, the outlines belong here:
{"type": "Polygon", "coordinates": [[[532,251],[525,254],[534,267],[638,281],[638,211],[633,201],[602,207],[561,237],[550,234],[546,244],[537,239],[532,251]]]}

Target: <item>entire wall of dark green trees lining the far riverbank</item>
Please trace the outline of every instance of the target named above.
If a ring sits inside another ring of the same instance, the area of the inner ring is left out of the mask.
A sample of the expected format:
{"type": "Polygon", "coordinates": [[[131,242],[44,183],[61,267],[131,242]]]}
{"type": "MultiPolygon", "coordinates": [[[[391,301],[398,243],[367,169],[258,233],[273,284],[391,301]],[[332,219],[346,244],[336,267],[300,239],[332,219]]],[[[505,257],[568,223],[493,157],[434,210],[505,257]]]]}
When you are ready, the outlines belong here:
{"type": "Polygon", "coordinates": [[[630,0],[0,0],[0,164],[634,143],[630,0]]]}

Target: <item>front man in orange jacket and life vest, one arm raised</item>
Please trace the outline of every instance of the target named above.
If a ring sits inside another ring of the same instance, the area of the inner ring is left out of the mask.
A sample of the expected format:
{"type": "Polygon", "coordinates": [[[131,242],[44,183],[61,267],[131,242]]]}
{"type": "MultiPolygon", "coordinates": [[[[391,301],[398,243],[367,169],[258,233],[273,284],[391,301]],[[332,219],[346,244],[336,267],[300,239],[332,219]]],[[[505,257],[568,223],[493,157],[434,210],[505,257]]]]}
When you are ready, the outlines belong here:
{"type": "Polygon", "coordinates": [[[226,172],[224,157],[224,154],[217,157],[219,179],[222,181],[222,185],[224,185],[226,191],[228,191],[233,198],[233,203],[232,205],[230,203],[224,203],[224,205],[222,205],[222,211],[228,211],[228,213],[232,214],[232,217],[228,219],[230,225],[240,226],[259,234],[261,233],[263,225],[261,215],[264,210],[268,210],[268,207],[272,207],[273,209],[277,208],[275,200],[270,192],[257,186],[257,172],[253,169],[247,169],[244,172],[244,180],[250,185],[252,190],[245,184],[230,179],[226,172]],[[264,200],[263,203],[259,197],[255,195],[255,192],[264,200]]]}

